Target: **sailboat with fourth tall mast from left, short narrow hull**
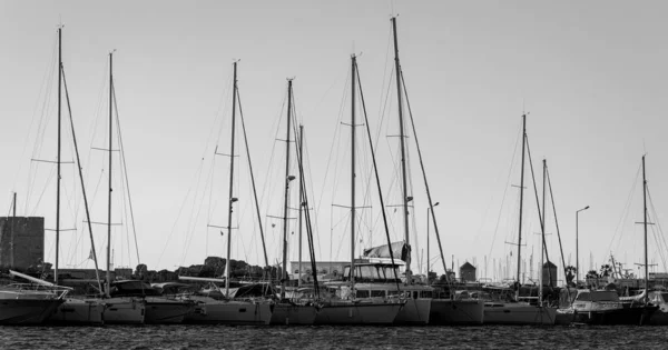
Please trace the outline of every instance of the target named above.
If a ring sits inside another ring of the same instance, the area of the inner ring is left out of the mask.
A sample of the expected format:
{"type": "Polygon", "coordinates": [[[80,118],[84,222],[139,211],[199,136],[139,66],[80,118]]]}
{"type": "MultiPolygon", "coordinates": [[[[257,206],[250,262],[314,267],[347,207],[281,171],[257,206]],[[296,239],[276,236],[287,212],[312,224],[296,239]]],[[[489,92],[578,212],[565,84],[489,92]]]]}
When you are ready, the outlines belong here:
{"type": "MultiPolygon", "coordinates": [[[[287,210],[289,200],[289,182],[295,179],[294,176],[289,174],[289,143],[291,143],[291,121],[293,118],[292,102],[293,102],[293,79],[287,81],[287,128],[285,138],[285,196],[283,206],[283,268],[281,273],[281,298],[274,306],[274,312],[272,313],[272,324],[313,324],[317,310],[312,302],[304,302],[304,300],[295,300],[286,298],[286,281],[287,274],[287,210]]],[[[299,142],[299,146],[302,142],[299,142]]],[[[299,161],[302,160],[302,153],[299,161]]],[[[302,167],[299,167],[302,172],[302,167]]],[[[303,177],[299,176],[299,179],[303,177]]],[[[299,180],[301,182],[301,180],[299,180]]],[[[299,198],[299,201],[302,199],[299,198]]]]}

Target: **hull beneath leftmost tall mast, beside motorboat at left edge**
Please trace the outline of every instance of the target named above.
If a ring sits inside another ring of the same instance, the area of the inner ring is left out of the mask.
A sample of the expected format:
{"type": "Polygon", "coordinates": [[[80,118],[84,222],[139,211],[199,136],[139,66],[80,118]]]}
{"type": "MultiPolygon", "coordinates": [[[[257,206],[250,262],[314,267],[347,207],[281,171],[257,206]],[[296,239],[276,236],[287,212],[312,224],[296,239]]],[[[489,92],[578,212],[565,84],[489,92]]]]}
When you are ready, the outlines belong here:
{"type": "Polygon", "coordinates": [[[49,322],[66,324],[92,324],[101,326],[105,323],[105,304],[102,300],[96,299],[66,299],[56,313],[51,316],[49,322]]]}

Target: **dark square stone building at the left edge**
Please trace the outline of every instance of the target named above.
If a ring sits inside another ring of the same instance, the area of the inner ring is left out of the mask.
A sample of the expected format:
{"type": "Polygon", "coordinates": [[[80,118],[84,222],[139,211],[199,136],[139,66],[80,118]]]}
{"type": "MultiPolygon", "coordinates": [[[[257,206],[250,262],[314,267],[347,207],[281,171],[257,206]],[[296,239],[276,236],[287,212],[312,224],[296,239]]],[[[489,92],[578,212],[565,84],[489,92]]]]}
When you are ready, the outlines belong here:
{"type": "Polygon", "coordinates": [[[45,258],[45,218],[0,217],[0,267],[37,268],[45,258]]]}

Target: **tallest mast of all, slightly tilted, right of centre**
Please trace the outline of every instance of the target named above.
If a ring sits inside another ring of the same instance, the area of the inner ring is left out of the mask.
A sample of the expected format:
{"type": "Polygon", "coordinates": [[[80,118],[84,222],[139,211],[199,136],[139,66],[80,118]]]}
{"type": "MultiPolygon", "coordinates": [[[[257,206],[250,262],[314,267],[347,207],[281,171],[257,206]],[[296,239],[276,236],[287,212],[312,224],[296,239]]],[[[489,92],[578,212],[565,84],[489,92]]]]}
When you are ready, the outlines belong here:
{"type": "Polygon", "coordinates": [[[406,256],[406,281],[411,281],[411,243],[409,238],[409,194],[406,184],[406,150],[403,121],[403,103],[401,99],[401,64],[399,63],[399,43],[396,40],[396,17],[392,18],[392,31],[394,33],[394,74],[396,76],[396,101],[399,103],[399,131],[401,139],[401,180],[402,180],[402,206],[404,216],[404,240],[409,247],[406,256]]]}

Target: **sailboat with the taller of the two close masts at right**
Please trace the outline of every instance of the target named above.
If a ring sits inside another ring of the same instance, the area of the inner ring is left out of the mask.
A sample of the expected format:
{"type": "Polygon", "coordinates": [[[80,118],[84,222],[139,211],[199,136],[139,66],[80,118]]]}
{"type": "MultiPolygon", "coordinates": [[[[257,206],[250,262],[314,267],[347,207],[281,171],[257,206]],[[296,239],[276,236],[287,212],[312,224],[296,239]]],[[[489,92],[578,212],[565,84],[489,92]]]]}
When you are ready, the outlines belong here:
{"type": "MultiPolygon", "coordinates": [[[[527,147],[527,114],[522,114],[522,164],[520,170],[520,214],[518,232],[518,270],[515,300],[509,302],[488,301],[484,303],[484,323],[490,324],[554,324],[557,309],[539,303],[519,301],[522,248],[522,209],[524,198],[524,154],[527,147]]],[[[544,229],[544,226],[543,226],[544,229]]],[[[543,237],[544,240],[544,237],[543,237]]],[[[543,247],[544,249],[544,242],[543,247]]]]}

